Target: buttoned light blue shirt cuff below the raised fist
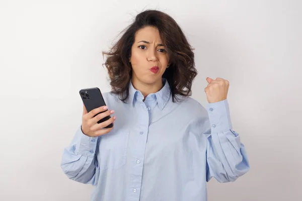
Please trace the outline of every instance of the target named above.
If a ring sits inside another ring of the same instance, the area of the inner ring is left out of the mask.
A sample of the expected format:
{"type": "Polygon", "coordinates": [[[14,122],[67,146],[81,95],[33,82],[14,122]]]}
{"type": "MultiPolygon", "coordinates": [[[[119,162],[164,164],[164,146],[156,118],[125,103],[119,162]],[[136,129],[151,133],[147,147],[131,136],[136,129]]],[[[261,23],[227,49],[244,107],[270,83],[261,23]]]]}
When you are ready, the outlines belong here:
{"type": "Polygon", "coordinates": [[[226,132],[233,128],[227,99],[216,103],[209,103],[206,109],[209,116],[211,133],[226,132]]]}

